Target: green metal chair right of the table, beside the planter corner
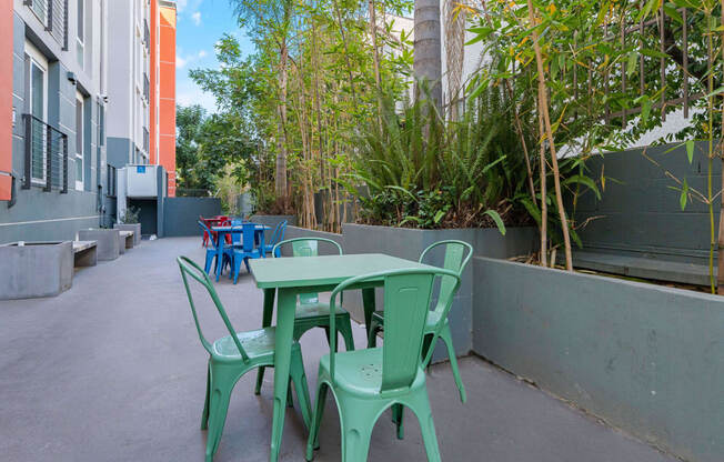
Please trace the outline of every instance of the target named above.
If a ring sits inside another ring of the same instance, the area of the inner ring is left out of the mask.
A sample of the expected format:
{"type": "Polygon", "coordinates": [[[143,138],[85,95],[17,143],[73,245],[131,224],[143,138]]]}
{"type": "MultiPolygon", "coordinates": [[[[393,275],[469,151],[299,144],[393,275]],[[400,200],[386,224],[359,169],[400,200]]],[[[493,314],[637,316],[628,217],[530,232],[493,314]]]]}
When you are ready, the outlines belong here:
{"type": "MultiPolygon", "coordinates": [[[[425,257],[434,249],[438,249],[441,245],[445,245],[445,259],[443,268],[451,270],[462,277],[465,267],[470,262],[470,259],[473,254],[473,247],[467,242],[446,240],[435,242],[432,245],[428,247],[422,251],[420,255],[420,262],[422,263],[425,260],[425,257]],[[467,250],[465,254],[465,250],[467,250]]],[[[440,278],[440,295],[438,298],[438,304],[428,317],[428,323],[425,324],[425,343],[422,354],[431,358],[428,353],[428,350],[434,350],[435,342],[433,342],[434,332],[439,332],[440,339],[445,343],[448,348],[448,356],[450,358],[450,366],[455,379],[455,384],[460,392],[460,400],[464,403],[467,401],[467,395],[465,393],[465,385],[460,378],[460,370],[457,368],[457,358],[455,355],[455,345],[452,341],[452,333],[450,331],[450,323],[448,322],[448,305],[452,303],[455,292],[457,291],[457,284],[455,280],[449,277],[440,278]],[[443,315],[444,313],[444,315],[443,315]]],[[[378,332],[384,329],[384,312],[375,311],[372,314],[370,322],[370,331],[368,338],[368,348],[374,346],[376,344],[378,332]]],[[[425,363],[425,366],[429,364],[425,363]]]]}

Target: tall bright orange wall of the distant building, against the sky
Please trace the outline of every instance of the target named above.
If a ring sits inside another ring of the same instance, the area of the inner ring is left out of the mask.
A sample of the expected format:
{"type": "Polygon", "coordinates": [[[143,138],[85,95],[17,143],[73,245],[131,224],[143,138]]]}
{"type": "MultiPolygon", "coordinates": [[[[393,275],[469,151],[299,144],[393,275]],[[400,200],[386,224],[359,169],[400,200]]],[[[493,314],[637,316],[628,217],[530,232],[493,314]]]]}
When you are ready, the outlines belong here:
{"type": "Polygon", "coordinates": [[[175,8],[160,6],[159,163],[169,174],[169,197],[175,195],[175,8]]]}

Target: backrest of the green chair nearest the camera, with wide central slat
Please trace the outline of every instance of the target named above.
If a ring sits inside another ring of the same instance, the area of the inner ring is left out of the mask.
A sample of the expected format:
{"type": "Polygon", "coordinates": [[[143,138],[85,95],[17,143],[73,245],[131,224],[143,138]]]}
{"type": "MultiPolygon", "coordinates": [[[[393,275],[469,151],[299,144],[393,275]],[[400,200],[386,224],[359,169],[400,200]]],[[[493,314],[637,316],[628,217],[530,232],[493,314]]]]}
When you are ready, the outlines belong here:
{"type": "MultiPolygon", "coordinates": [[[[384,281],[384,342],[382,344],[382,385],[380,393],[403,391],[412,385],[421,358],[423,331],[428,314],[432,287],[436,277],[450,277],[460,284],[460,277],[450,270],[421,268],[383,271],[348,279],[333,291],[330,301],[330,332],[335,329],[334,309],[338,294],[344,290],[363,285],[365,282],[384,281]]],[[[330,337],[330,374],[334,382],[334,356],[336,335],[330,337]]],[[[434,334],[438,341],[438,333],[434,334]]],[[[425,359],[426,360],[426,359],[425,359]]]]}

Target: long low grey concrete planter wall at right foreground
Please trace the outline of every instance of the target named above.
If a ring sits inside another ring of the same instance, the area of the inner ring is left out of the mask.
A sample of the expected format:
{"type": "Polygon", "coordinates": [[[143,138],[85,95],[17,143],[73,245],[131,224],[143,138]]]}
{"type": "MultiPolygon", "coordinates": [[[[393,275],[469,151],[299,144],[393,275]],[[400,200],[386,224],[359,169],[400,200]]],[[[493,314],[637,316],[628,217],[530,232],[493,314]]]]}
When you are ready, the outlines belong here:
{"type": "Polygon", "coordinates": [[[474,261],[474,351],[685,460],[724,460],[724,298],[474,261]]]}

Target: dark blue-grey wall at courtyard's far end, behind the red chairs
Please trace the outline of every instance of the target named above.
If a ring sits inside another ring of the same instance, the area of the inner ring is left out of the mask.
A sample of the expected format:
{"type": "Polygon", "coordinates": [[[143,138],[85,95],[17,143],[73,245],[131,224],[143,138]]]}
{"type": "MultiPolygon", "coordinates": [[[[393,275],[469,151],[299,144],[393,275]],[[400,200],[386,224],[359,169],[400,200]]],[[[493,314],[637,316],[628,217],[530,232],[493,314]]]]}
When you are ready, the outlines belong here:
{"type": "Polygon", "coordinates": [[[197,222],[199,215],[221,214],[221,200],[218,198],[165,198],[163,201],[163,228],[167,238],[201,235],[197,222]]]}

